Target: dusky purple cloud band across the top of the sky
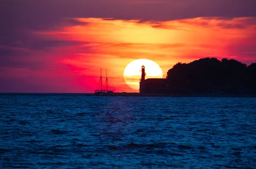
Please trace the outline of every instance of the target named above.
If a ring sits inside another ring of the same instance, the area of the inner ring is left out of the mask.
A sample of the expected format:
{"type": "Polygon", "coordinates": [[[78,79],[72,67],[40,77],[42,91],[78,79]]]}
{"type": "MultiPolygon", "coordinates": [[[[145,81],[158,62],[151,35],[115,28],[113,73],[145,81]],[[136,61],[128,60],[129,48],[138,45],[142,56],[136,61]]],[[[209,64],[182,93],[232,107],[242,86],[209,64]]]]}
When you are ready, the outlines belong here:
{"type": "MultiPolygon", "coordinates": [[[[253,17],[255,0],[2,0],[0,44],[29,40],[28,30],[81,25],[74,17],[177,20],[194,17],[253,17]]],[[[204,24],[204,23],[202,23],[204,24]]],[[[242,25],[226,25],[226,27],[242,25]]]]}

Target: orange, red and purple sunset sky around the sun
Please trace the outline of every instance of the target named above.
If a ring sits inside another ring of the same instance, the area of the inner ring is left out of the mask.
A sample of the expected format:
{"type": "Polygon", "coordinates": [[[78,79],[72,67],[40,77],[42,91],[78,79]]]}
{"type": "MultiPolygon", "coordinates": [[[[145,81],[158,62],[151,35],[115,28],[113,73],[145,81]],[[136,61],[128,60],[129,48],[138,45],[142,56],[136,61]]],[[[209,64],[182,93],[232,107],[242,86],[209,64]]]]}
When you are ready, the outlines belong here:
{"type": "Polygon", "coordinates": [[[0,93],[92,93],[100,68],[116,91],[126,65],[163,76],[204,57],[256,62],[256,0],[1,0],[0,93]]]}

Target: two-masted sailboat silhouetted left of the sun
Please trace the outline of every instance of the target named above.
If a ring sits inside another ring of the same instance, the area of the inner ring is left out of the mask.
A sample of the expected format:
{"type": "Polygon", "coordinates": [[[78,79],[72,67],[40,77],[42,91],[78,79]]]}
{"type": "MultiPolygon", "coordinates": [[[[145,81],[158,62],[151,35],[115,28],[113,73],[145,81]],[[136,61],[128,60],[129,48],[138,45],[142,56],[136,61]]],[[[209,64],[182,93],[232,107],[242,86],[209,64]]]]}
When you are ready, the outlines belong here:
{"type": "Polygon", "coordinates": [[[111,85],[110,81],[108,82],[107,70],[106,70],[106,82],[105,82],[105,85],[103,86],[103,83],[102,83],[102,69],[100,69],[99,84],[100,84],[100,89],[98,88],[97,90],[95,90],[95,92],[94,92],[95,96],[108,96],[109,93],[113,93],[115,91],[115,87],[113,87],[113,85],[111,85]],[[109,87],[111,87],[112,90],[109,90],[109,87]]]}

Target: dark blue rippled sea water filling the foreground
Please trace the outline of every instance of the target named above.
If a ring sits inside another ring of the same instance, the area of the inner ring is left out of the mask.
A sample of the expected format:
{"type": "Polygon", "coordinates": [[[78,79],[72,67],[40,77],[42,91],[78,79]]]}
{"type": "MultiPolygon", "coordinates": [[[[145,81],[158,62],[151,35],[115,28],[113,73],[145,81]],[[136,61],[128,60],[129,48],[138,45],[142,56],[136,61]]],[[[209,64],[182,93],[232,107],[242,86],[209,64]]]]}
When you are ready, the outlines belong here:
{"type": "Polygon", "coordinates": [[[0,168],[255,168],[256,98],[0,95],[0,168]]]}

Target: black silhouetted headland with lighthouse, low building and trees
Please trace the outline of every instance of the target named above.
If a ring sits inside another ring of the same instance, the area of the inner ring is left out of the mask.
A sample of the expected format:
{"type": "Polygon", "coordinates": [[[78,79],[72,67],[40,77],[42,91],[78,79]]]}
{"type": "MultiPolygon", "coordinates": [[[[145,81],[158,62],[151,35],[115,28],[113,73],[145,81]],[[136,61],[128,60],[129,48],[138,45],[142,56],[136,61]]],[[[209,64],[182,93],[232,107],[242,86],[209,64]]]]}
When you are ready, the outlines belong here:
{"type": "MultiPolygon", "coordinates": [[[[146,71],[144,66],[142,70],[146,71]]],[[[247,66],[234,59],[204,58],[188,64],[178,62],[168,70],[166,79],[145,79],[144,74],[140,82],[141,96],[256,94],[256,63],[247,66]]]]}

